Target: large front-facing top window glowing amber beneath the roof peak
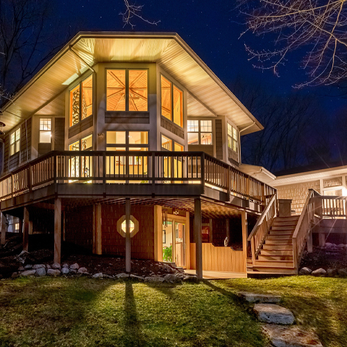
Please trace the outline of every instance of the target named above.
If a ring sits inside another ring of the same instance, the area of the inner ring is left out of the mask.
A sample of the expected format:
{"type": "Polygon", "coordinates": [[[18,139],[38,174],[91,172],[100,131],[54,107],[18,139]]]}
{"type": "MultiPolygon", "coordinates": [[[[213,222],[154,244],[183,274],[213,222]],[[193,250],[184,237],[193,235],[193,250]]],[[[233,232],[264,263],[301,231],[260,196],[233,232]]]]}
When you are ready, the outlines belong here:
{"type": "Polygon", "coordinates": [[[148,110],[148,70],[108,69],[107,111],[148,110]]]}

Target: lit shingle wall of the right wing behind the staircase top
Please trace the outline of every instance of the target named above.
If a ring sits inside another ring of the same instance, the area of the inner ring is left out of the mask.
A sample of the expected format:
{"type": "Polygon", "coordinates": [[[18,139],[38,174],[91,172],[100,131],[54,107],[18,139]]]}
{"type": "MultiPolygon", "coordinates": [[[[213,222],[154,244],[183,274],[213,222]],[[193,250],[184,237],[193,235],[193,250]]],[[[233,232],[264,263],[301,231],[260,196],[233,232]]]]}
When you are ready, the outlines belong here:
{"type": "Polygon", "coordinates": [[[278,198],[291,198],[291,209],[296,214],[301,214],[307,198],[308,189],[314,189],[320,193],[319,180],[292,185],[282,185],[277,188],[278,198]]]}

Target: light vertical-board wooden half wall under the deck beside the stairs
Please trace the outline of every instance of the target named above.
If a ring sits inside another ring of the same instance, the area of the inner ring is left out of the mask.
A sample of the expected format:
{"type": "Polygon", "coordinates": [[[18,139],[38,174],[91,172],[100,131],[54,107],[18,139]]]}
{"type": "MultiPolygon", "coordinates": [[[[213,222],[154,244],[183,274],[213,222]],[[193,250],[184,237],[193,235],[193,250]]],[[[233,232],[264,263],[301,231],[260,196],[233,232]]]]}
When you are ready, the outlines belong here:
{"type": "MultiPolygon", "coordinates": [[[[246,259],[242,251],[229,247],[203,244],[203,271],[246,272],[246,259]]],[[[195,244],[190,244],[190,269],[196,268],[195,244]]]]}

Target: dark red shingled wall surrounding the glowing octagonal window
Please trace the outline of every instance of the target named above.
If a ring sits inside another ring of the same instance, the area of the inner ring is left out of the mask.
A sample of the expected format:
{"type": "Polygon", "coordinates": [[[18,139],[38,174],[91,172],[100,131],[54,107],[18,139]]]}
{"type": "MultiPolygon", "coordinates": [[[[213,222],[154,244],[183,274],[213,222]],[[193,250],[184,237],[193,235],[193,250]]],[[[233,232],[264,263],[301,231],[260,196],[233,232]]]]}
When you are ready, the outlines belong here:
{"type": "MultiPolygon", "coordinates": [[[[103,254],[125,256],[126,239],[117,232],[117,221],[125,213],[125,205],[101,207],[103,254]]],[[[130,214],[139,221],[139,232],[131,238],[131,258],[154,260],[154,207],[131,206],[130,214]]]]}

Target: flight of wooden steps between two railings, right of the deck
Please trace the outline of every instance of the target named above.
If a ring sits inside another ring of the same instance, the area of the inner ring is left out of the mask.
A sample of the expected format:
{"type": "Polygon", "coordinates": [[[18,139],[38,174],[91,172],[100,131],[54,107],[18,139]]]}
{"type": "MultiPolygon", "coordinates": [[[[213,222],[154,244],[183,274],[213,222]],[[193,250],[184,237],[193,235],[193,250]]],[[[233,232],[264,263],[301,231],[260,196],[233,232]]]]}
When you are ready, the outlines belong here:
{"type": "Polygon", "coordinates": [[[293,234],[299,216],[275,217],[254,261],[247,260],[248,277],[295,275],[293,234]]]}

